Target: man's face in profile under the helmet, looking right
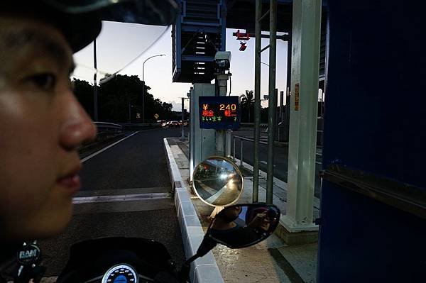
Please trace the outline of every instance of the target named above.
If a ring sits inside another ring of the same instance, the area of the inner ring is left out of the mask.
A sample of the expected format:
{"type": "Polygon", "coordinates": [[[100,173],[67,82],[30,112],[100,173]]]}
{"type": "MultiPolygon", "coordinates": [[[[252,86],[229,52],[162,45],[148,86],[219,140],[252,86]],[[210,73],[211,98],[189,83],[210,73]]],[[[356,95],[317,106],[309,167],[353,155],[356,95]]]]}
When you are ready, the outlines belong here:
{"type": "Polygon", "coordinates": [[[72,94],[72,51],[42,21],[0,13],[0,238],[58,233],[96,129],[72,94]]]}

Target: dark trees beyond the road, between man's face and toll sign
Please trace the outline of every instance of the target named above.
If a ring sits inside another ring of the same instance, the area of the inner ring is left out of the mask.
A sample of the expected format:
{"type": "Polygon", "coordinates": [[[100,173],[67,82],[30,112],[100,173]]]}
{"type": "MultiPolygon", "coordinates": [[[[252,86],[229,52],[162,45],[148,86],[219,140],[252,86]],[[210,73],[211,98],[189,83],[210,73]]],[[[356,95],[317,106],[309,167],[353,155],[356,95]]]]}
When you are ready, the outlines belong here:
{"type": "MultiPolygon", "coordinates": [[[[93,85],[81,79],[73,79],[74,92],[84,109],[94,118],[93,85]]],[[[172,111],[170,103],[155,99],[149,91],[151,87],[145,85],[145,121],[156,121],[158,114],[161,120],[178,118],[172,111]]],[[[142,91],[143,82],[138,76],[117,74],[114,79],[101,84],[98,93],[98,120],[104,122],[132,123],[142,122],[142,91]]]]}

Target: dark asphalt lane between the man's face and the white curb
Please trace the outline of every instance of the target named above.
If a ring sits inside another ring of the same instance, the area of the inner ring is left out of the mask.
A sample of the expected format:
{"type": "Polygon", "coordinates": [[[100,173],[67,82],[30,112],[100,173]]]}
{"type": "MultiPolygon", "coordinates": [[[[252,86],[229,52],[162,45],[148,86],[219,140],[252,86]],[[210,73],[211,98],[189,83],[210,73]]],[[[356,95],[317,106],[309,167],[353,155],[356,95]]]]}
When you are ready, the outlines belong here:
{"type": "Polygon", "coordinates": [[[70,225],[40,242],[45,276],[60,273],[73,243],[107,236],[158,240],[182,264],[182,236],[163,145],[163,138],[173,136],[180,136],[179,129],[126,133],[119,143],[114,140],[115,145],[82,159],[82,189],[70,225]]]}

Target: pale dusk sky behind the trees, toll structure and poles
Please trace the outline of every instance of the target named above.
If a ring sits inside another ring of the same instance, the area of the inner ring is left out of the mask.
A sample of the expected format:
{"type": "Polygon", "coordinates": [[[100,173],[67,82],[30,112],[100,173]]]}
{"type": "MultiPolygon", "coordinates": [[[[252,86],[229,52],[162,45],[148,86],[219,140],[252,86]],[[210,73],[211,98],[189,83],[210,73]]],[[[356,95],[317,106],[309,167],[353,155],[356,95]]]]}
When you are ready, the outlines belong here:
{"type": "MultiPolygon", "coordinates": [[[[104,22],[102,33],[97,39],[98,70],[114,73],[127,65],[131,60],[143,53],[141,57],[119,74],[136,74],[142,79],[142,64],[146,58],[153,55],[165,54],[165,57],[155,57],[145,64],[145,81],[151,89],[151,94],[161,101],[173,104],[173,110],[180,111],[180,97],[189,91],[190,83],[172,82],[172,38],[171,28],[143,26],[133,23],[104,22]],[[159,36],[163,33],[163,36],[159,36]],[[155,40],[157,40],[155,42],[155,40]],[[151,48],[148,48],[152,43],[151,48]],[[147,49],[148,48],[148,49],[147,49]]],[[[241,30],[242,31],[242,30],[241,30]]],[[[239,51],[240,43],[232,36],[233,29],[226,30],[226,50],[231,51],[232,87],[231,95],[244,94],[246,89],[254,89],[254,45],[255,39],[247,41],[247,49],[239,51]]],[[[268,39],[262,40],[262,47],[268,45],[268,39]]],[[[262,62],[268,64],[269,51],[262,53],[262,62]]],[[[75,55],[77,69],[75,77],[92,83],[93,45],[75,55]]],[[[277,80],[276,87],[285,90],[287,67],[287,43],[277,40],[277,80]]],[[[261,96],[268,94],[268,66],[261,64],[261,96]]],[[[102,78],[98,74],[98,79],[102,78]]],[[[229,84],[228,84],[229,91],[229,84]]],[[[278,101],[279,103],[279,101],[278,101]]],[[[262,102],[267,106],[267,101],[262,102]]],[[[186,106],[187,107],[187,106],[186,106]]]]}

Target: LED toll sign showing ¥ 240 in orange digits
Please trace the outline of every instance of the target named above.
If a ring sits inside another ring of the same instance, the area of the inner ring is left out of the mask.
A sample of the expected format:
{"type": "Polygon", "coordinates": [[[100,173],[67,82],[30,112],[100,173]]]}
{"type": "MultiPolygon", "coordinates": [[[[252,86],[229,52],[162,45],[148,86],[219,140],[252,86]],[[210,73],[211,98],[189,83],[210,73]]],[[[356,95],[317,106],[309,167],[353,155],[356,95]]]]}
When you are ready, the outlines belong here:
{"type": "Polygon", "coordinates": [[[236,130],[240,122],[239,96],[200,96],[200,128],[236,130]]]}

